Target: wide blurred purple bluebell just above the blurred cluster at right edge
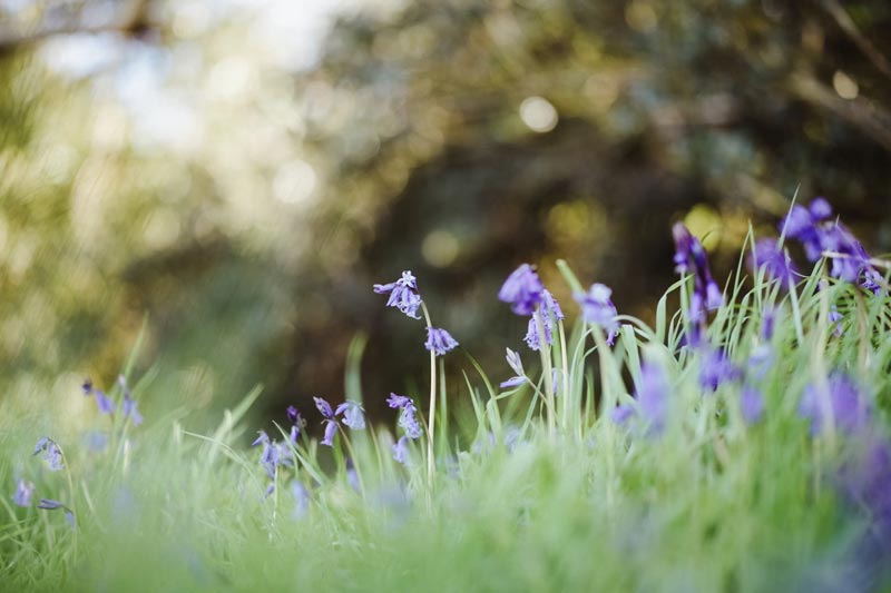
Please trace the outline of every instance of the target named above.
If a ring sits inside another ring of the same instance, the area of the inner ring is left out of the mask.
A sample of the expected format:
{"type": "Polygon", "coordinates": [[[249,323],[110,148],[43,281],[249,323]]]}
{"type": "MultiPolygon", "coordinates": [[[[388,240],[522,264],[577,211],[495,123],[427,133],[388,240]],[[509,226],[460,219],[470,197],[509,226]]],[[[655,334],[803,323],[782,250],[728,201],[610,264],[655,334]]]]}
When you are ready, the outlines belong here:
{"type": "Polygon", "coordinates": [[[799,403],[799,415],[811,421],[811,434],[821,434],[826,424],[825,414],[836,429],[856,434],[870,419],[870,407],[860,395],[860,389],[850,377],[835,373],[829,377],[825,389],[807,385],[799,403]]]}

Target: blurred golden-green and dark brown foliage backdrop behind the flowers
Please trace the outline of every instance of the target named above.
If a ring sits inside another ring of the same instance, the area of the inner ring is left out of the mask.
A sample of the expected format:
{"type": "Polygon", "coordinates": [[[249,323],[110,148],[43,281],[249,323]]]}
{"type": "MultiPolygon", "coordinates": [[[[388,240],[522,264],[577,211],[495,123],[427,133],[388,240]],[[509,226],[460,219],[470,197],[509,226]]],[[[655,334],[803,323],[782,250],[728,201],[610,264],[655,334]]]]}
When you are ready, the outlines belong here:
{"type": "Polygon", "coordinates": [[[0,397],[92,414],[147,318],[149,417],[341,401],[359,332],[373,412],[427,380],[371,291],[408,268],[506,378],[519,263],[649,318],[672,221],[725,277],[796,188],[887,253],[889,30],[887,0],[0,0],[0,397]]]}

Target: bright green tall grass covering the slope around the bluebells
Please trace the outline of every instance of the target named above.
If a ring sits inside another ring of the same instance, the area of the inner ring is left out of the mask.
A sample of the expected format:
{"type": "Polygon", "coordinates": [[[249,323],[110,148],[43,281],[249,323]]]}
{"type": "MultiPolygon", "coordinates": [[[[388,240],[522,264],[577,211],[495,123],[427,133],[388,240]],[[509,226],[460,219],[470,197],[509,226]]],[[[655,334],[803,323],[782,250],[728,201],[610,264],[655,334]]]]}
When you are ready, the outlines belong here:
{"type": "MultiPolygon", "coordinates": [[[[596,324],[557,325],[551,345],[523,352],[529,380],[501,389],[467,352],[444,383],[433,360],[430,393],[408,394],[425,416],[410,442],[378,426],[339,425],[333,447],[284,424],[270,435],[287,463],[272,476],[245,414],[248,394],[212,434],[184,429],[182,415],[133,426],[116,414],[94,451],[82,435],[49,434],[65,454],[51,472],[31,449],[51,427],[2,413],[0,484],[35,485],[27,507],[0,498],[0,586],[23,590],[194,591],[859,591],[888,585],[891,559],[881,517],[849,487],[864,447],[884,443],[891,398],[891,308],[829,276],[821,260],[792,290],[764,270],[737,274],[727,305],[698,345],[687,304],[691,277],[657,304],[655,327],[620,315],[615,345],[596,324]],[[684,304],[672,314],[667,302],[684,304]],[[831,320],[833,305],[842,315],[831,320]],[[764,316],[774,316],[770,336],[764,316]],[[840,335],[836,335],[840,328],[840,335]],[[704,388],[708,354],[724,352],[736,375],[704,388]],[[752,369],[753,355],[767,356],[752,369]],[[539,358],[540,356],[540,358],[539,358]],[[538,359],[537,359],[538,358],[538,359]],[[556,368],[558,373],[540,373],[556,368]],[[639,392],[648,369],[666,388],[664,417],[647,416],[639,392]],[[843,373],[868,409],[845,431],[821,401],[823,429],[802,415],[809,388],[828,394],[843,373]],[[556,378],[556,380],[554,380],[556,378]],[[746,417],[741,394],[763,397],[746,417]],[[617,422],[617,406],[630,416],[617,422]],[[110,427],[110,428],[109,428],[110,427]],[[428,441],[428,436],[433,436],[428,441]],[[272,492],[268,492],[272,486],[272,492]],[[267,494],[268,493],[268,494],[267,494]],[[63,503],[36,507],[37,500],[63,503]],[[881,535],[881,534],[879,534],[881,535]],[[877,548],[875,544],[880,547],[877,548]],[[879,550],[877,552],[877,550],[879,550]],[[877,555],[878,554],[878,555],[877,555]]],[[[576,291],[580,283],[559,267],[576,291]]],[[[887,277],[885,277],[887,281],[887,277]]],[[[564,304],[568,309],[569,304],[564,304]]],[[[539,332],[544,329],[539,324],[539,332]]],[[[375,345],[384,347],[384,345],[375,345]]],[[[351,350],[352,393],[361,393],[351,350]]],[[[398,355],[398,353],[393,353],[398,355]]],[[[439,367],[435,363],[439,363],[439,367]]],[[[508,366],[491,372],[498,378],[508,366]]],[[[151,376],[123,374],[136,399],[151,376]]],[[[109,395],[120,401],[123,389],[109,395]]],[[[72,395],[74,397],[75,395],[72,395]]],[[[185,396],[185,394],[184,394],[185,396]]],[[[380,395],[375,395],[380,397],[380,395]]],[[[383,396],[385,397],[385,396],[383,396]]],[[[395,414],[394,414],[395,418],[395,414]]],[[[869,476],[889,468],[870,466],[869,476]]],[[[884,474],[882,474],[884,471],[884,474]]],[[[856,484],[854,484],[856,486],[856,484]]]]}

